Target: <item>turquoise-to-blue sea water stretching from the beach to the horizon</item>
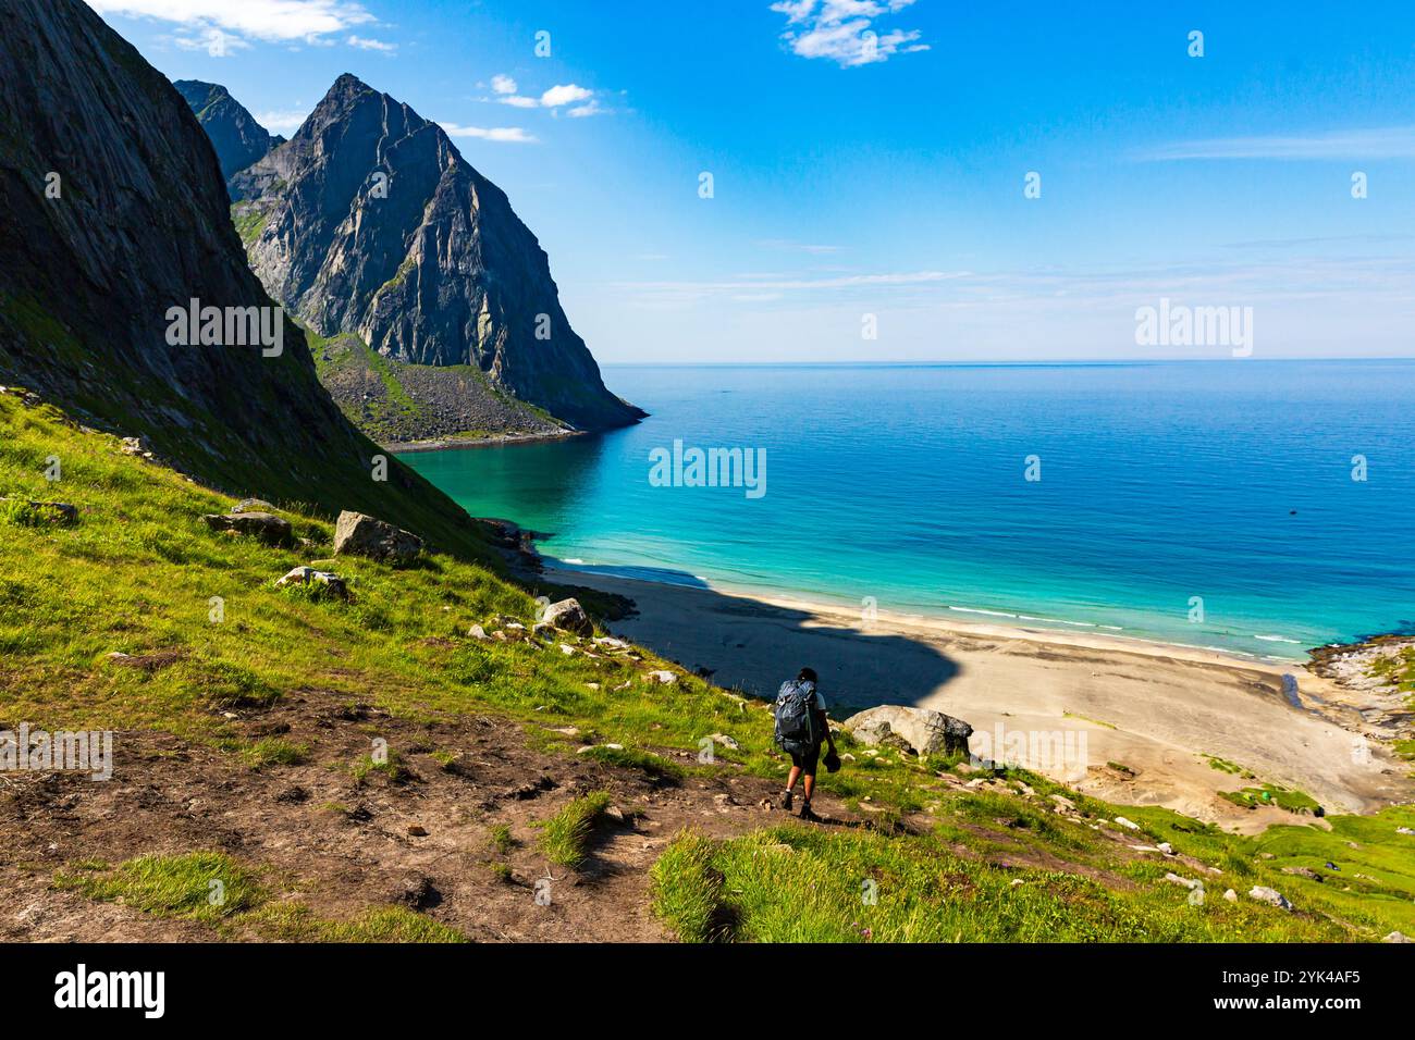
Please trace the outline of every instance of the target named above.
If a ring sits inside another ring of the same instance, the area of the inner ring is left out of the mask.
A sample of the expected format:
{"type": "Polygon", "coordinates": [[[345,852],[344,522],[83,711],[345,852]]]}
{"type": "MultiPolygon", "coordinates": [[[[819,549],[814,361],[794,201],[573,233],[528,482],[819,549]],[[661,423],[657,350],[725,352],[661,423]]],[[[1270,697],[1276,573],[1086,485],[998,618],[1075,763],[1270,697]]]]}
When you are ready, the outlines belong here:
{"type": "Polygon", "coordinates": [[[471,514],[548,532],[546,555],[634,577],[1281,659],[1415,618],[1415,361],[608,366],[606,382],[652,417],[403,458],[471,514]],[[675,439],[763,449],[764,494],[655,485],[651,453],[675,439]]]}

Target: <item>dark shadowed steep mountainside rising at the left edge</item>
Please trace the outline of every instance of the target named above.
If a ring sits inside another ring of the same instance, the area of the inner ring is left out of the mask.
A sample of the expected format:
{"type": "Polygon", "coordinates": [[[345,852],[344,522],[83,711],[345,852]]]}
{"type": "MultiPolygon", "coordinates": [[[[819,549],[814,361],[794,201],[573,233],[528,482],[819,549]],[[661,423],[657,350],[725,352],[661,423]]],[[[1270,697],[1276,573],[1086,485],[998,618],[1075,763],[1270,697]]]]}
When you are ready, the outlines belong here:
{"type": "Polygon", "coordinates": [[[222,490],[358,509],[443,545],[475,528],[396,460],[371,478],[379,450],[250,272],[191,109],[81,0],[0,4],[0,383],[146,437],[222,490]],[[180,345],[200,341],[173,317],[192,300],[226,318],[255,308],[269,345],[180,345]]]}

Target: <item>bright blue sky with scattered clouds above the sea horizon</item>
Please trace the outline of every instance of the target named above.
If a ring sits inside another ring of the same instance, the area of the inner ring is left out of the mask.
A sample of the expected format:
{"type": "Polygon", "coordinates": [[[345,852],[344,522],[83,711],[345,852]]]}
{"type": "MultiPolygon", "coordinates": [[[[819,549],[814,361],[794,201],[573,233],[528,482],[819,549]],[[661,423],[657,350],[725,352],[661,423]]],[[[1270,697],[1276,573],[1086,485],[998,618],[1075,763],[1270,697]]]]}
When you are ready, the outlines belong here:
{"type": "Polygon", "coordinates": [[[1415,355],[1409,3],[89,3],[279,133],[341,72],[443,123],[601,362],[1231,354],[1160,299],[1415,355]]]}

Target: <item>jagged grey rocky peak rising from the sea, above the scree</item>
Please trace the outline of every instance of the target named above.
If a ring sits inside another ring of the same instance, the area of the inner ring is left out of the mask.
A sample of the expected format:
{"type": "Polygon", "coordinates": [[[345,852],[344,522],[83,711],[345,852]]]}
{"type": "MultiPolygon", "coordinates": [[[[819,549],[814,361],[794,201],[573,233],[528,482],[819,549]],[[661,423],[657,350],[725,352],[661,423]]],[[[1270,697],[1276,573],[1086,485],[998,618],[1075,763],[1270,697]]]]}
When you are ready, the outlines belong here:
{"type": "Polygon", "coordinates": [[[501,188],[408,105],[342,75],[289,141],[231,180],[266,289],[324,337],[470,366],[577,429],[644,413],[610,393],[549,259],[501,188]]]}

